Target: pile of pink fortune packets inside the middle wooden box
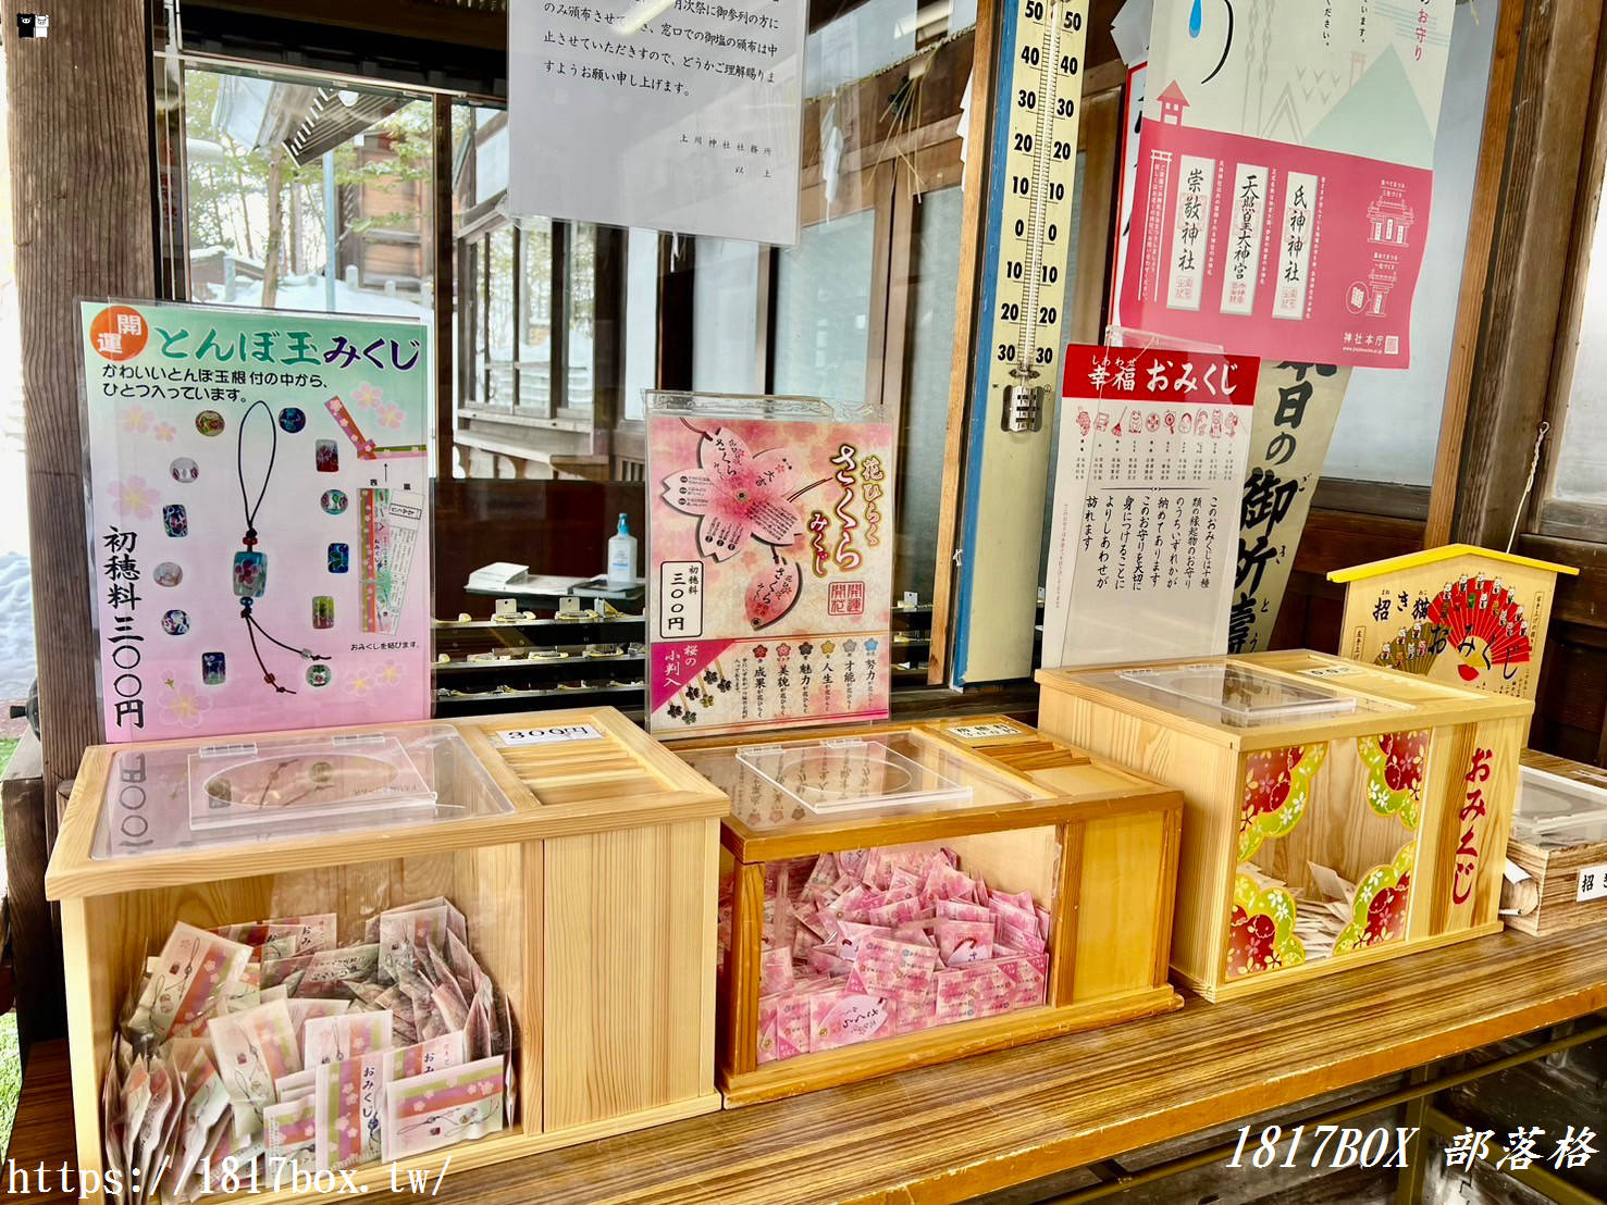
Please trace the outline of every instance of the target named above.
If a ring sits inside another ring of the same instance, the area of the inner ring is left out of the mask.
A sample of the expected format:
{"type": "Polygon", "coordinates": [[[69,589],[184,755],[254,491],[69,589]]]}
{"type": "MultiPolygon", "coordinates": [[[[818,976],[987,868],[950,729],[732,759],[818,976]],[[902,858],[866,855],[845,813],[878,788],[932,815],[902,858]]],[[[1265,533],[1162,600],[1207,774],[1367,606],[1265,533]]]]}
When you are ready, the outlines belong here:
{"type": "Polygon", "coordinates": [[[1030,892],[988,890],[938,844],[770,863],[757,1059],[1041,1006],[1048,937],[1030,892]]]}

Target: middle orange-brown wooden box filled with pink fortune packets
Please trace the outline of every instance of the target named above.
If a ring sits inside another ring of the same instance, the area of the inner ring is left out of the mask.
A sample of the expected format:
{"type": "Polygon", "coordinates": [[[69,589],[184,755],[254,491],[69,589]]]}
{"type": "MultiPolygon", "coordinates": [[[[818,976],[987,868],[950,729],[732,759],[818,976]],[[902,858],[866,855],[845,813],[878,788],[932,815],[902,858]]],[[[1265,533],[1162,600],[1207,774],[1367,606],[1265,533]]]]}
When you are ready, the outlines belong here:
{"type": "Polygon", "coordinates": [[[677,752],[733,800],[726,1104],[1181,1004],[1178,792],[1000,717],[677,752]]]}

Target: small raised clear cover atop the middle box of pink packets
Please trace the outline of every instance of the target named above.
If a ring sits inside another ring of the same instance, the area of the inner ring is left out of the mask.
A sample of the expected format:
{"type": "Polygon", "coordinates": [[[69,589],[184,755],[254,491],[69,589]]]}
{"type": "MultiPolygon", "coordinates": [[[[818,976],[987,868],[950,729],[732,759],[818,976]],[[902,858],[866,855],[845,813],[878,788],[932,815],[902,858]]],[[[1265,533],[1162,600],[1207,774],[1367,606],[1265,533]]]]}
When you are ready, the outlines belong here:
{"type": "Polygon", "coordinates": [[[810,811],[969,803],[963,782],[921,765],[887,741],[836,739],[797,745],[749,745],[736,760],[810,811]]]}

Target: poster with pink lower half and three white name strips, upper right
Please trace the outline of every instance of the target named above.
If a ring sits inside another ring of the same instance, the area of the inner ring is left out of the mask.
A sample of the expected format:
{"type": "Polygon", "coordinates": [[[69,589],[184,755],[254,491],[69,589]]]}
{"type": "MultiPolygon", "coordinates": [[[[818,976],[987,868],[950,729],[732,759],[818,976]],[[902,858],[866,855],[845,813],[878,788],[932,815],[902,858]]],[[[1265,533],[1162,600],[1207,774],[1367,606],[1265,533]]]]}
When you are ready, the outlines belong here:
{"type": "Polygon", "coordinates": [[[1453,0],[1155,0],[1122,323],[1411,362],[1453,0]]]}

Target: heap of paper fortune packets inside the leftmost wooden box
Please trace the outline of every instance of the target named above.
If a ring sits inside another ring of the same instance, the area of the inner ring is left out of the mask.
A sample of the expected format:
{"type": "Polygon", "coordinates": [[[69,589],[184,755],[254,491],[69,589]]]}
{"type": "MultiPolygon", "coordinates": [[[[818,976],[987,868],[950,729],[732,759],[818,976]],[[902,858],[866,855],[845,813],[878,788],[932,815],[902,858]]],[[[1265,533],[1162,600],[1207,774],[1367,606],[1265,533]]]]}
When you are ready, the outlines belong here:
{"type": "Polygon", "coordinates": [[[204,1191],[202,1160],[373,1162],[387,1141],[391,1081],[418,1086],[410,1101],[426,1121],[415,1131],[416,1118],[402,1120],[403,1149],[511,1123],[513,1015],[469,951],[463,914],[426,900],[373,916],[365,937],[341,946],[333,914],[175,925],[112,1038],[108,1170],[190,1202],[204,1191]],[[440,1078],[469,1065],[476,1075],[440,1078]]]}

